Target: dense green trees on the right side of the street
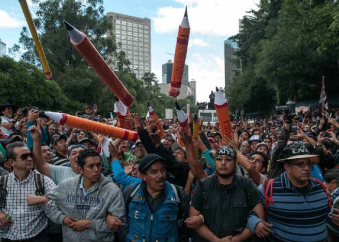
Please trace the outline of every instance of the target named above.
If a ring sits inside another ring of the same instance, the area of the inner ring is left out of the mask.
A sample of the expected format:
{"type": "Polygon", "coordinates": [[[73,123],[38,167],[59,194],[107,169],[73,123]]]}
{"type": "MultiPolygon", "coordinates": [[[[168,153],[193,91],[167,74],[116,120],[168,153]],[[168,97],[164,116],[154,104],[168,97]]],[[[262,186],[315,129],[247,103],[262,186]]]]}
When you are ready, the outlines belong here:
{"type": "Polygon", "coordinates": [[[230,107],[258,111],[339,90],[339,7],[326,0],[261,0],[232,37],[242,75],[227,87],[230,107]],[[259,101],[258,101],[259,100],[259,101]],[[261,102],[263,101],[263,102],[261,102]]]}

